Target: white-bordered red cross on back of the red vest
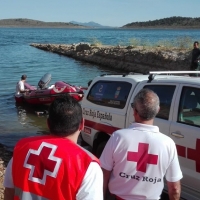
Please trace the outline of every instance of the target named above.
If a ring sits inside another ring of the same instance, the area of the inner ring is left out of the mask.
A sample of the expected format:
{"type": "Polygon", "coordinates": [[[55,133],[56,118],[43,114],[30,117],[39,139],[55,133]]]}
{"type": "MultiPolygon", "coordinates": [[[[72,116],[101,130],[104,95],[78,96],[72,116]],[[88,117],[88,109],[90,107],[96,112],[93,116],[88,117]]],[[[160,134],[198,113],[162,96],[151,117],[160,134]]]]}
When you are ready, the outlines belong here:
{"type": "Polygon", "coordinates": [[[24,167],[30,169],[29,180],[45,185],[46,177],[57,177],[61,158],[55,157],[56,145],[42,142],[38,150],[30,149],[24,167]]]}

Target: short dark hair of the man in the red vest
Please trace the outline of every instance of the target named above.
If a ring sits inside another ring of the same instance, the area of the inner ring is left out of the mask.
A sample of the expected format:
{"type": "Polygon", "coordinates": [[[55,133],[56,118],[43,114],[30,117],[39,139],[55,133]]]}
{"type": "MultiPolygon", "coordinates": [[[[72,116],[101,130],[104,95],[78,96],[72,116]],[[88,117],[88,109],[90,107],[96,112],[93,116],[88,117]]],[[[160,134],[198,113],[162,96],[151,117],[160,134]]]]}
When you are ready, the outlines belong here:
{"type": "Polygon", "coordinates": [[[79,129],[82,118],[81,105],[68,94],[56,98],[49,107],[49,129],[57,136],[75,133],[79,129]]]}

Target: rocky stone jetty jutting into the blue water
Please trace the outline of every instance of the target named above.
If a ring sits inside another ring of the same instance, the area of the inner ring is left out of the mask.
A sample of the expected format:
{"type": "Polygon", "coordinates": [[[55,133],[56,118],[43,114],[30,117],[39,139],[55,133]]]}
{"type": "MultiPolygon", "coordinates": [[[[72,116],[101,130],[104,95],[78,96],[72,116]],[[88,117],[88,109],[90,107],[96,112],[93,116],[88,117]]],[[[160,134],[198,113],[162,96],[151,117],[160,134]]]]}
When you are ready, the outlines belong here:
{"type": "Polygon", "coordinates": [[[148,74],[149,71],[189,70],[191,51],[178,48],[134,46],[95,46],[78,44],[30,44],[38,49],[76,60],[121,70],[148,74]]]}

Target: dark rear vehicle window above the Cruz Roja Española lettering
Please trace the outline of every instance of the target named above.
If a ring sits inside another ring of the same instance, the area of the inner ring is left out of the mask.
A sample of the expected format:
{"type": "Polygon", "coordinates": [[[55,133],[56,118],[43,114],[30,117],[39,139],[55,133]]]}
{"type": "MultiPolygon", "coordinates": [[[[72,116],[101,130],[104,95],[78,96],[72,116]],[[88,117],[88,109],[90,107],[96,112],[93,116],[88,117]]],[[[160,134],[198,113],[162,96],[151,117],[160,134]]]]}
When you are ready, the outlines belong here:
{"type": "Polygon", "coordinates": [[[127,82],[98,81],[91,88],[87,100],[98,105],[123,109],[131,86],[127,82]]]}

